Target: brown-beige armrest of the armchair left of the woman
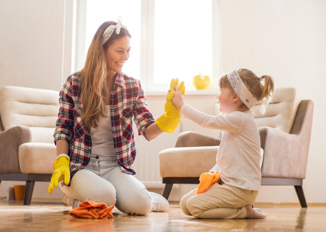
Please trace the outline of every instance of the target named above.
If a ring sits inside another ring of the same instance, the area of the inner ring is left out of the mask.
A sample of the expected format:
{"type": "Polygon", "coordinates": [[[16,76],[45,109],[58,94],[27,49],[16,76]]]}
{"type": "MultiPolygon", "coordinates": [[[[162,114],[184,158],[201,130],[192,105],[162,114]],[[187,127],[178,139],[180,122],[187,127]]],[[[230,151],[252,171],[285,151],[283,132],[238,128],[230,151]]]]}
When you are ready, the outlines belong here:
{"type": "Polygon", "coordinates": [[[27,126],[16,126],[0,132],[0,174],[21,173],[19,167],[19,146],[31,142],[32,133],[27,126]]]}

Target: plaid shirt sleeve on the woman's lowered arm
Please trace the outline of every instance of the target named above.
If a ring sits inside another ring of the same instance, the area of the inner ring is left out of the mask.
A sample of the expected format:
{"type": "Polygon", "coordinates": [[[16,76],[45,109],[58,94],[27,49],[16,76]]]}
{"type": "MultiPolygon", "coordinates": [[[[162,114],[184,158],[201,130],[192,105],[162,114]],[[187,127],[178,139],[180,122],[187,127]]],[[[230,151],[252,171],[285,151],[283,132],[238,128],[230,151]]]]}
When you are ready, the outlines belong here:
{"type": "Polygon", "coordinates": [[[59,114],[54,131],[54,143],[64,139],[70,144],[73,139],[74,127],[74,100],[72,99],[72,79],[68,77],[59,94],[59,114]]]}

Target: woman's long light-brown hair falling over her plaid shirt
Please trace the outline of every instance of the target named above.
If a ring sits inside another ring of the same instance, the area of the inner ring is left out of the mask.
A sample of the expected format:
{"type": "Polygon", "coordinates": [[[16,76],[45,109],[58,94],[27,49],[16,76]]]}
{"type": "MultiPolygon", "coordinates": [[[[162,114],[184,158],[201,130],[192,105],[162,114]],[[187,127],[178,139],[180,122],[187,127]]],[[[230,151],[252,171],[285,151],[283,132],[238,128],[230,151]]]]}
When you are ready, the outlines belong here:
{"type": "Polygon", "coordinates": [[[97,128],[101,117],[107,117],[105,111],[105,97],[109,94],[107,89],[106,51],[114,42],[124,36],[130,36],[129,32],[121,28],[119,34],[112,33],[111,37],[102,44],[103,33],[110,25],[117,25],[114,21],[104,22],[96,31],[88,48],[86,62],[80,71],[81,98],[83,123],[85,126],[97,128]]]}

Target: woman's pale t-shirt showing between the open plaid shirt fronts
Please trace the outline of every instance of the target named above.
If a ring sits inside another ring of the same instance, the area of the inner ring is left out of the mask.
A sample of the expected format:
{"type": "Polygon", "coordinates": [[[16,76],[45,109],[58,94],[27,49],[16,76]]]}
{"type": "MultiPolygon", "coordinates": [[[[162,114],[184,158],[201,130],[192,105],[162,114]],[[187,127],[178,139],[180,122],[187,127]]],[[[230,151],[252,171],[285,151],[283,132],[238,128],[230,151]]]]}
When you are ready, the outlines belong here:
{"type": "Polygon", "coordinates": [[[106,105],[108,117],[100,118],[98,127],[90,128],[90,138],[92,140],[92,154],[101,156],[115,156],[113,145],[110,105],[106,105]]]}

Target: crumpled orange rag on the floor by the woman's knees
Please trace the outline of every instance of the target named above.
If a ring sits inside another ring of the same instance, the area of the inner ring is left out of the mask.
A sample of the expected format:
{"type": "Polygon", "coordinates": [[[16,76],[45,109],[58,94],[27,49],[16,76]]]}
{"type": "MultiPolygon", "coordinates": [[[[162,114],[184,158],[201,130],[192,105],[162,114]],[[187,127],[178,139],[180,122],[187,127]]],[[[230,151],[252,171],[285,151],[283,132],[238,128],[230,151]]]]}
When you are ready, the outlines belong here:
{"type": "Polygon", "coordinates": [[[85,200],[79,207],[70,210],[69,215],[75,218],[113,218],[111,213],[113,208],[113,205],[108,207],[105,203],[85,200]]]}

